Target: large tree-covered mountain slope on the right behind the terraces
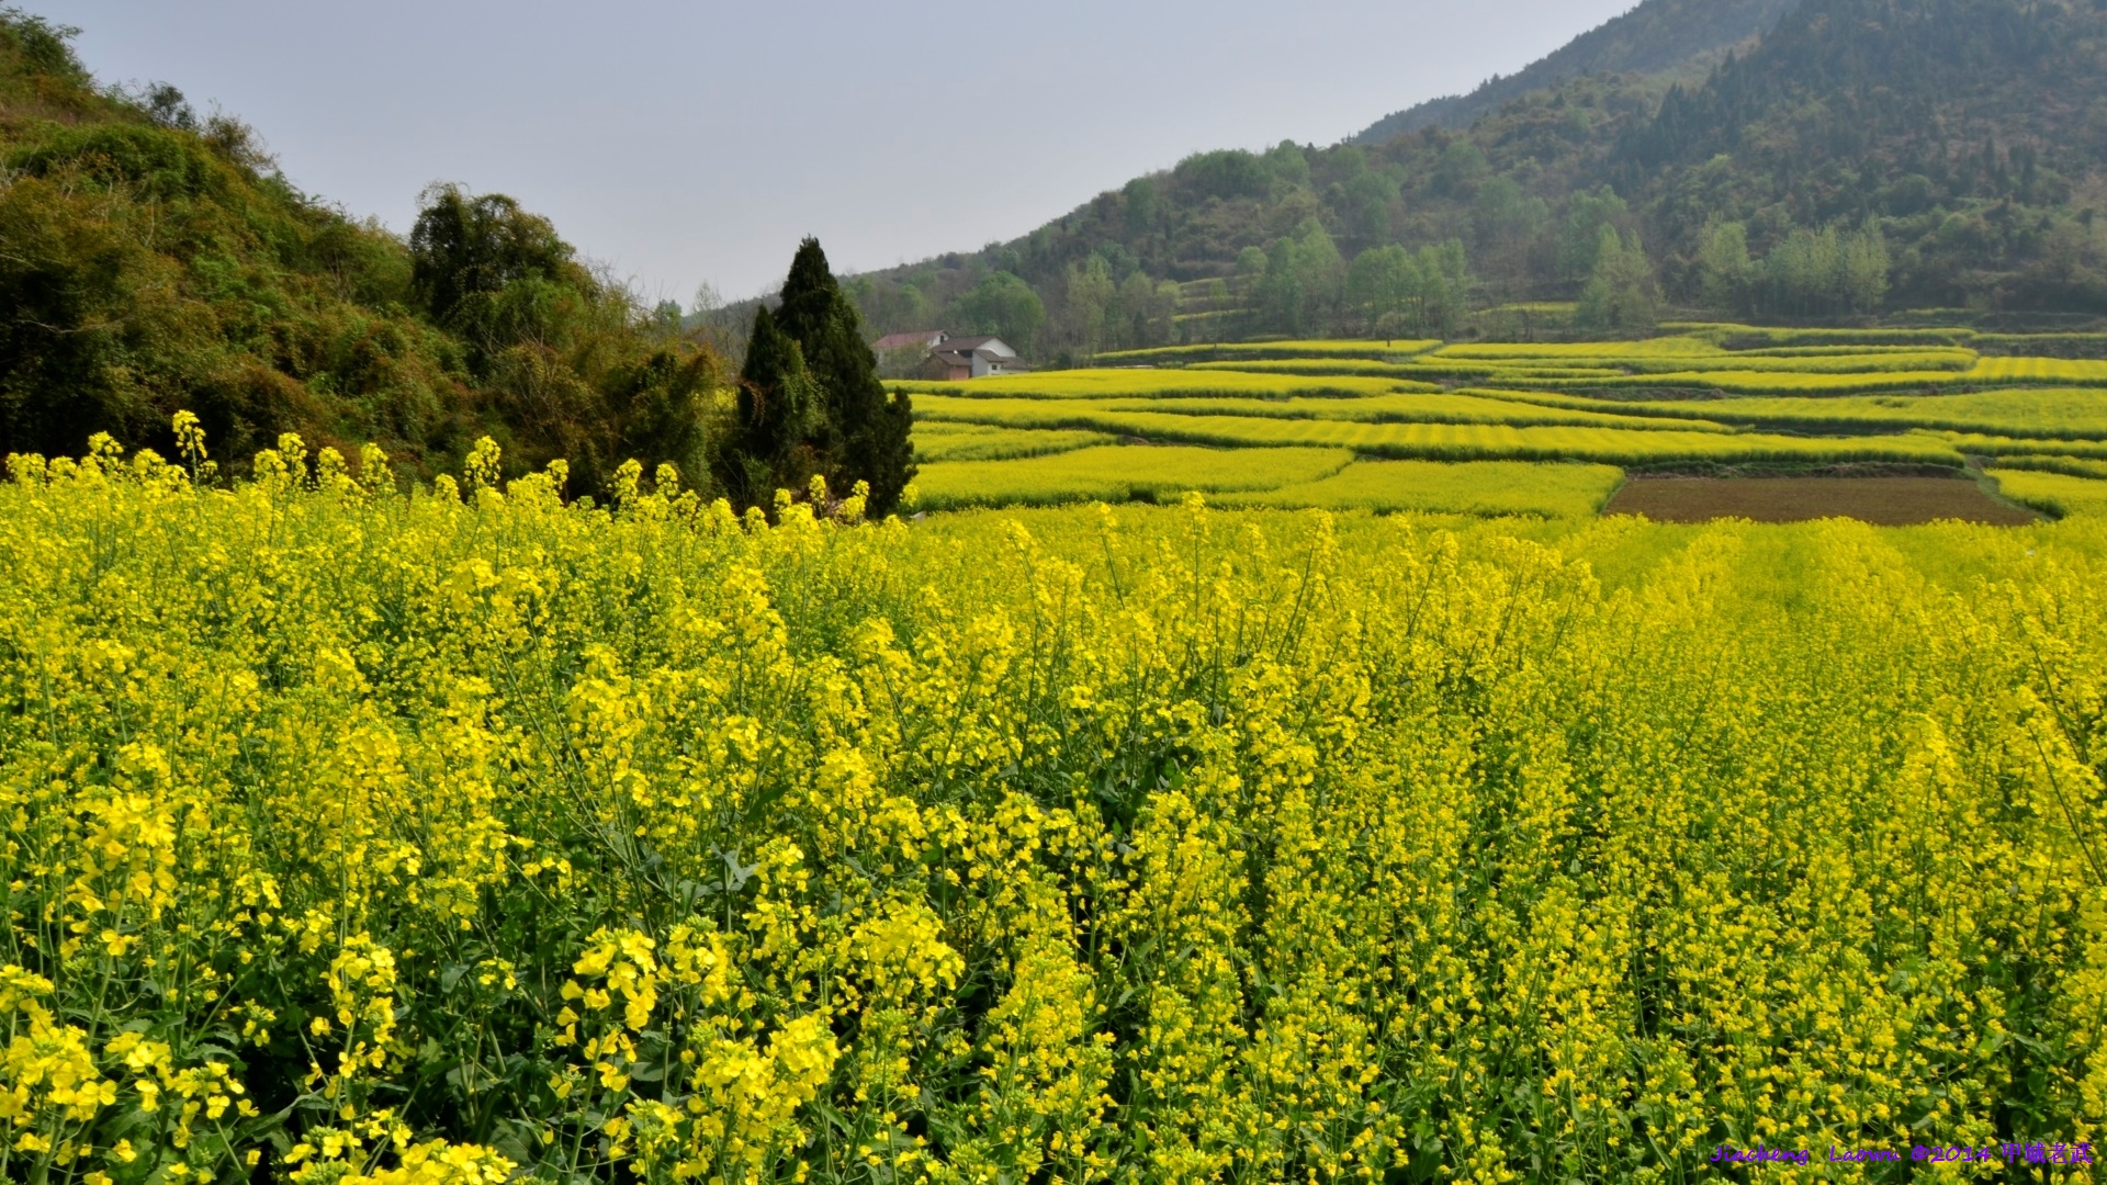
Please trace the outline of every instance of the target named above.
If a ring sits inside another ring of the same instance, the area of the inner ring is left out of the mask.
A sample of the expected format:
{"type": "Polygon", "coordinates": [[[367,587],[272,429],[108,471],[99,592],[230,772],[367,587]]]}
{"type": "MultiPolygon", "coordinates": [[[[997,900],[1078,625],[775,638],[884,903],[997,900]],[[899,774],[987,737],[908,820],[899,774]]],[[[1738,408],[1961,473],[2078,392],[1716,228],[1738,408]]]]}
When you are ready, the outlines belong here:
{"type": "Polygon", "coordinates": [[[1804,0],[1702,76],[1582,74],[1460,131],[1197,154],[853,289],[872,329],[1001,331],[1051,361],[1454,333],[1523,302],[1578,302],[1589,329],[1665,306],[2107,314],[2103,167],[2092,0],[1804,0]]]}

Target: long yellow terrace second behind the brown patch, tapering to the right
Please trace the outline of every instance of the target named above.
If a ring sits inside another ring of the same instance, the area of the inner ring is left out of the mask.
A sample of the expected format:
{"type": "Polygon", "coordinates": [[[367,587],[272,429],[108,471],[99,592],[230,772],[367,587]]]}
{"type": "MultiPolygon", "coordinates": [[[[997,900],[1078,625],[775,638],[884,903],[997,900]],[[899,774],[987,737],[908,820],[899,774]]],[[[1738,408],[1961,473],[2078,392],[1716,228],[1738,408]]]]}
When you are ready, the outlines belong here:
{"type": "Polygon", "coordinates": [[[1475,394],[1376,394],[1370,399],[950,399],[914,403],[921,422],[999,428],[1072,428],[1127,432],[1129,415],[1212,415],[1252,420],[1338,420],[1348,424],[1509,424],[1515,428],[1618,428],[1631,432],[1736,432],[1705,420],[1667,420],[1576,411],[1475,394]]]}

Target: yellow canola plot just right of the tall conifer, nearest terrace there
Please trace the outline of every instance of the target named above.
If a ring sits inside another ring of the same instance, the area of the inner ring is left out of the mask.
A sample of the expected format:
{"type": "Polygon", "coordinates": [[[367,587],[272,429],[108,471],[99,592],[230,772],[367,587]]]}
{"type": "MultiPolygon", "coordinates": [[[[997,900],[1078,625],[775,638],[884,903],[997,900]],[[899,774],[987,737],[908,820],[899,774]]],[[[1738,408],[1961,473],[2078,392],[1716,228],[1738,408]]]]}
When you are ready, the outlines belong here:
{"type": "Polygon", "coordinates": [[[1013,462],[944,462],[914,479],[917,506],[1054,506],[1131,502],[1186,491],[1224,493],[1306,485],[1353,464],[1346,449],[1188,449],[1108,445],[1013,462]]]}

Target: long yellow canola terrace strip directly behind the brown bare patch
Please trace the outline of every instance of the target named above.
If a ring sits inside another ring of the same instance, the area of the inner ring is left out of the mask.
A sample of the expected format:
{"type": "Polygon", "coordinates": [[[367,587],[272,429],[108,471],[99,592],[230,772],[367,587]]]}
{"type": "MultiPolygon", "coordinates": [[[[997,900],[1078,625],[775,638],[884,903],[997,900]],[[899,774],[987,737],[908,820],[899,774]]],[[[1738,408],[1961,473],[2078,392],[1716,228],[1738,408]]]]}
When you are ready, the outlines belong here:
{"type": "MultiPolygon", "coordinates": [[[[1030,405],[1026,405],[1030,407],[1030,405]]],[[[961,415],[973,413],[963,407],[961,415]]],[[[1028,424],[1009,424],[1028,426],[1028,424]]],[[[1049,415],[1047,428],[1094,428],[1188,445],[1355,449],[1399,460],[1587,460],[1599,464],[1671,462],[1911,462],[1960,466],[1941,436],[1766,436],[1755,432],[1641,428],[1517,428],[1511,424],[1357,424],[1340,420],[1260,420],[1256,415],[1176,415],[1096,411],[1049,415]]]]}

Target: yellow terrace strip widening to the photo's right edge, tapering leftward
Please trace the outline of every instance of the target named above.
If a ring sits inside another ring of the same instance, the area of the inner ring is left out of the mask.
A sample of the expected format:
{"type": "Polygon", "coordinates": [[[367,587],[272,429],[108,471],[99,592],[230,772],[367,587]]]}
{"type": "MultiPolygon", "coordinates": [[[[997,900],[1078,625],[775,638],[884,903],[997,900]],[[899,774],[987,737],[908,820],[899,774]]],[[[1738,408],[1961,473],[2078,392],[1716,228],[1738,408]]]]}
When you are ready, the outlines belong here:
{"type": "MultiPolygon", "coordinates": [[[[1498,401],[1665,420],[1709,420],[1806,432],[1936,430],[1985,436],[2107,441],[2107,390],[1991,390],[1833,399],[1610,401],[1576,394],[1471,388],[1498,401]]],[[[2035,451],[2035,449],[2029,449],[2035,451]]]]}

